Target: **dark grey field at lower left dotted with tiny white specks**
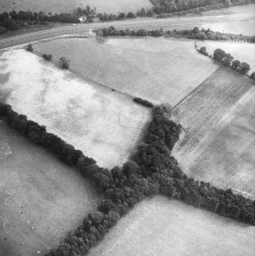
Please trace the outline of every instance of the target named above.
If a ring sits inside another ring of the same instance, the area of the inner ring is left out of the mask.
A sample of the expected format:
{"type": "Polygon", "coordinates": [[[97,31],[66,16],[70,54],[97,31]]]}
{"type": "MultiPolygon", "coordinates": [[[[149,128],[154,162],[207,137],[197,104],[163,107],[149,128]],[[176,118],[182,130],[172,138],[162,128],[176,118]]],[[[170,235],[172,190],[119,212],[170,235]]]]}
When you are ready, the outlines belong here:
{"type": "Polygon", "coordinates": [[[0,255],[37,255],[101,199],[80,173],[0,123],[0,255]]]}

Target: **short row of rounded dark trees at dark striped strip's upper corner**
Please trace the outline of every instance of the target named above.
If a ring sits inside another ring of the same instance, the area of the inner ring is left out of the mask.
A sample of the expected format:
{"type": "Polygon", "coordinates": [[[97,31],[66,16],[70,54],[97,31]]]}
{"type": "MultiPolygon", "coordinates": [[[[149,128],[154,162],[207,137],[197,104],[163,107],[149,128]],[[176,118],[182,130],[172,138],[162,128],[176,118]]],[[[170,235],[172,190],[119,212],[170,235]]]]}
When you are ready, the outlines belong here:
{"type": "Polygon", "coordinates": [[[225,53],[224,50],[219,48],[214,51],[213,57],[225,66],[231,66],[233,70],[237,70],[242,74],[247,74],[250,71],[250,65],[248,63],[240,63],[239,60],[234,60],[234,57],[230,53],[225,53]]]}

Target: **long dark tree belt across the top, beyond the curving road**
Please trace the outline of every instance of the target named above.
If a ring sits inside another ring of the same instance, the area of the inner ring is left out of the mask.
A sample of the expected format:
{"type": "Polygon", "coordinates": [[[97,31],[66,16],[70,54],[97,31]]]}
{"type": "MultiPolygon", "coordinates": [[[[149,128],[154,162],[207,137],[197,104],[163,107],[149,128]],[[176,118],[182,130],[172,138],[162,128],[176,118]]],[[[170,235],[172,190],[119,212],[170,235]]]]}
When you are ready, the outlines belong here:
{"type": "Polygon", "coordinates": [[[210,11],[220,8],[228,8],[232,5],[247,5],[255,0],[150,0],[153,3],[153,8],[145,10],[141,8],[137,13],[129,11],[119,11],[118,15],[97,13],[96,8],[76,8],[72,14],[45,14],[43,11],[5,11],[0,14],[0,34],[7,30],[16,30],[20,27],[28,27],[33,24],[48,24],[48,22],[62,23],[80,23],[80,17],[86,17],[86,22],[93,22],[99,19],[100,21],[115,21],[123,19],[131,19],[137,17],[157,17],[167,18],[173,15],[187,15],[195,13],[201,15],[202,11],[210,11]]]}

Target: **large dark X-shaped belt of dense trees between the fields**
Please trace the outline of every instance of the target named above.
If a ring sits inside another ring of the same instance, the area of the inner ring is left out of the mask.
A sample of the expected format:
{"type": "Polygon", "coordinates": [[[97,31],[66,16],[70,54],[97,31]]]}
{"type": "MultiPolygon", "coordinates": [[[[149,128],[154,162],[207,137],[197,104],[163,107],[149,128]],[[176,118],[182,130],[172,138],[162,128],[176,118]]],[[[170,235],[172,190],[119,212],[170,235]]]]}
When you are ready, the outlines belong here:
{"type": "Polygon", "coordinates": [[[18,115],[11,106],[0,104],[0,118],[4,118],[11,128],[35,144],[46,147],[64,163],[76,166],[105,194],[98,209],[89,214],[82,225],[69,234],[62,245],[49,251],[47,256],[86,254],[104,238],[121,216],[144,197],[155,194],[179,199],[240,222],[255,224],[255,201],[234,194],[231,189],[218,189],[210,183],[187,177],[179,168],[171,151],[179,140],[182,128],[170,117],[169,107],[154,107],[152,121],[138,153],[122,167],[108,170],[98,167],[95,160],[85,157],[56,135],[47,133],[44,126],[28,121],[25,115],[18,115]]]}

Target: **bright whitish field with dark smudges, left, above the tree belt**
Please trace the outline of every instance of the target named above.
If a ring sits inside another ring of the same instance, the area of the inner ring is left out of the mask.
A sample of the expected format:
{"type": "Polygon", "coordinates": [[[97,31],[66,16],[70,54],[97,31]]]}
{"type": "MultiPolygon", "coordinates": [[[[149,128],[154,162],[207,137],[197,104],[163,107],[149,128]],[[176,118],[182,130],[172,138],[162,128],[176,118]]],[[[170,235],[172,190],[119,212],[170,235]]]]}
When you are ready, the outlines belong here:
{"type": "Polygon", "coordinates": [[[2,53],[0,66],[2,100],[99,166],[125,162],[150,121],[150,109],[130,97],[78,79],[26,50],[2,53]]]}

